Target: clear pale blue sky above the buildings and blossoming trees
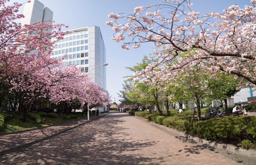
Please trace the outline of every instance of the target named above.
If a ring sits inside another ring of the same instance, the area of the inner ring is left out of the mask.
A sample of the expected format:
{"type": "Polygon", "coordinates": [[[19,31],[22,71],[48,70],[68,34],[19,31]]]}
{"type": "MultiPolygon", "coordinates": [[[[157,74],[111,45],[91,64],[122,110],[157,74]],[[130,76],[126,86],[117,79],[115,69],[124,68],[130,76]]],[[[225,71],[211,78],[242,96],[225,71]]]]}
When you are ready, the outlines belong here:
{"type": "MultiPolygon", "coordinates": [[[[163,0],[39,0],[54,12],[53,19],[56,23],[63,23],[69,28],[76,29],[84,26],[99,26],[106,47],[107,90],[111,97],[118,100],[117,92],[122,88],[124,76],[132,75],[125,66],[135,65],[140,62],[143,55],[152,52],[152,44],[144,44],[138,49],[124,50],[122,43],[111,40],[113,30],[106,25],[106,21],[112,21],[107,15],[111,12],[132,14],[136,6],[150,6],[163,3],[163,0]]],[[[24,3],[26,0],[10,0],[10,3],[24,3]]],[[[10,4],[8,3],[8,4],[10,4]]],[[[208,12],[222,12],[232,4],[238,4],[241,8],[251,5],[250,0],[190,0],[193,3],[192,10],[200,14],[208,12]]],[[[23,7],[20,8],[23,11],[23,7]]],[[[118,101],[117,101],[118,102],[118,101]]]]}

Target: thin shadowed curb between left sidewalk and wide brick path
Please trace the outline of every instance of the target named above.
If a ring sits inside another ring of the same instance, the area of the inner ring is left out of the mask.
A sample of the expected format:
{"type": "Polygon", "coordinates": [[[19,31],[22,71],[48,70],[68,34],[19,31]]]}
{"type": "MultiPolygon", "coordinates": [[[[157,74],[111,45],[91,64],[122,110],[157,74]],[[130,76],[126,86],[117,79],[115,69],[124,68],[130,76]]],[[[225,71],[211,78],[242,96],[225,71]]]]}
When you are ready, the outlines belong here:
{"type": "MultiPolygon", "coordinates": [[[[98,118],[101,118],[101,117],[103,117],[103,116],[105,116],[105,115],[107,115],[107,114],[109,114],[109,113],[106,113],[106,114],[104,114],[104,115],[101,115],[101,116],[99,116],[98,118]]],[[[25,148],[25,147],[28,147],[28,146],[32,146],[33,144],[36,144],[36,143],[39,143],[39,142],[43,142],[44,140],[50,139],[50,138],[52,138],[52,137],[54,137],[54,136],[57,136],[57,135],[59,135],[59,134],[61,134],[61,133],[70,131],[71,129],[77,128],[78,126],[81,126],[81,125],[83,125],[83,124],[85,124],[85,123],[87,123],[87,122],[94,121],[94,120],[96,120],[96,119],[98,119],[98,118],[95,118],[95,119],[93,119],[93,120],[86,121],[86,122],[84,122],[84,123],[82,123],[82,124],[78,124],[78,125],[73,126],[73,127],[71,127],[71,128],[67,128],[67,129],[65,129],[65,130],[63,130],[63,131],[61,131],[61,132],[55,133],[55,134],[53,134],[53,135],[51,135],[51,136],[43,137],[43,138],[41,138],[41,139],[38,139],[38,140],[35,140],[35,141],[32,141],[32,142],[26,143],[26,144],[22,144],[22,145],[20,145],[20,146],[12,147],[12,148],[9,148],[9,149],[7,149],[7,150],[2,150],[2,151],[0,151],[0,156],[3,156],[4,154],[13,152],[13,151],[15,151],[15,150],[20,150],[20,149],[22,149],[22,148],[25,148]]],[[[44,127],[44,128],[45,128],[45,127],[44,127]]]]}

